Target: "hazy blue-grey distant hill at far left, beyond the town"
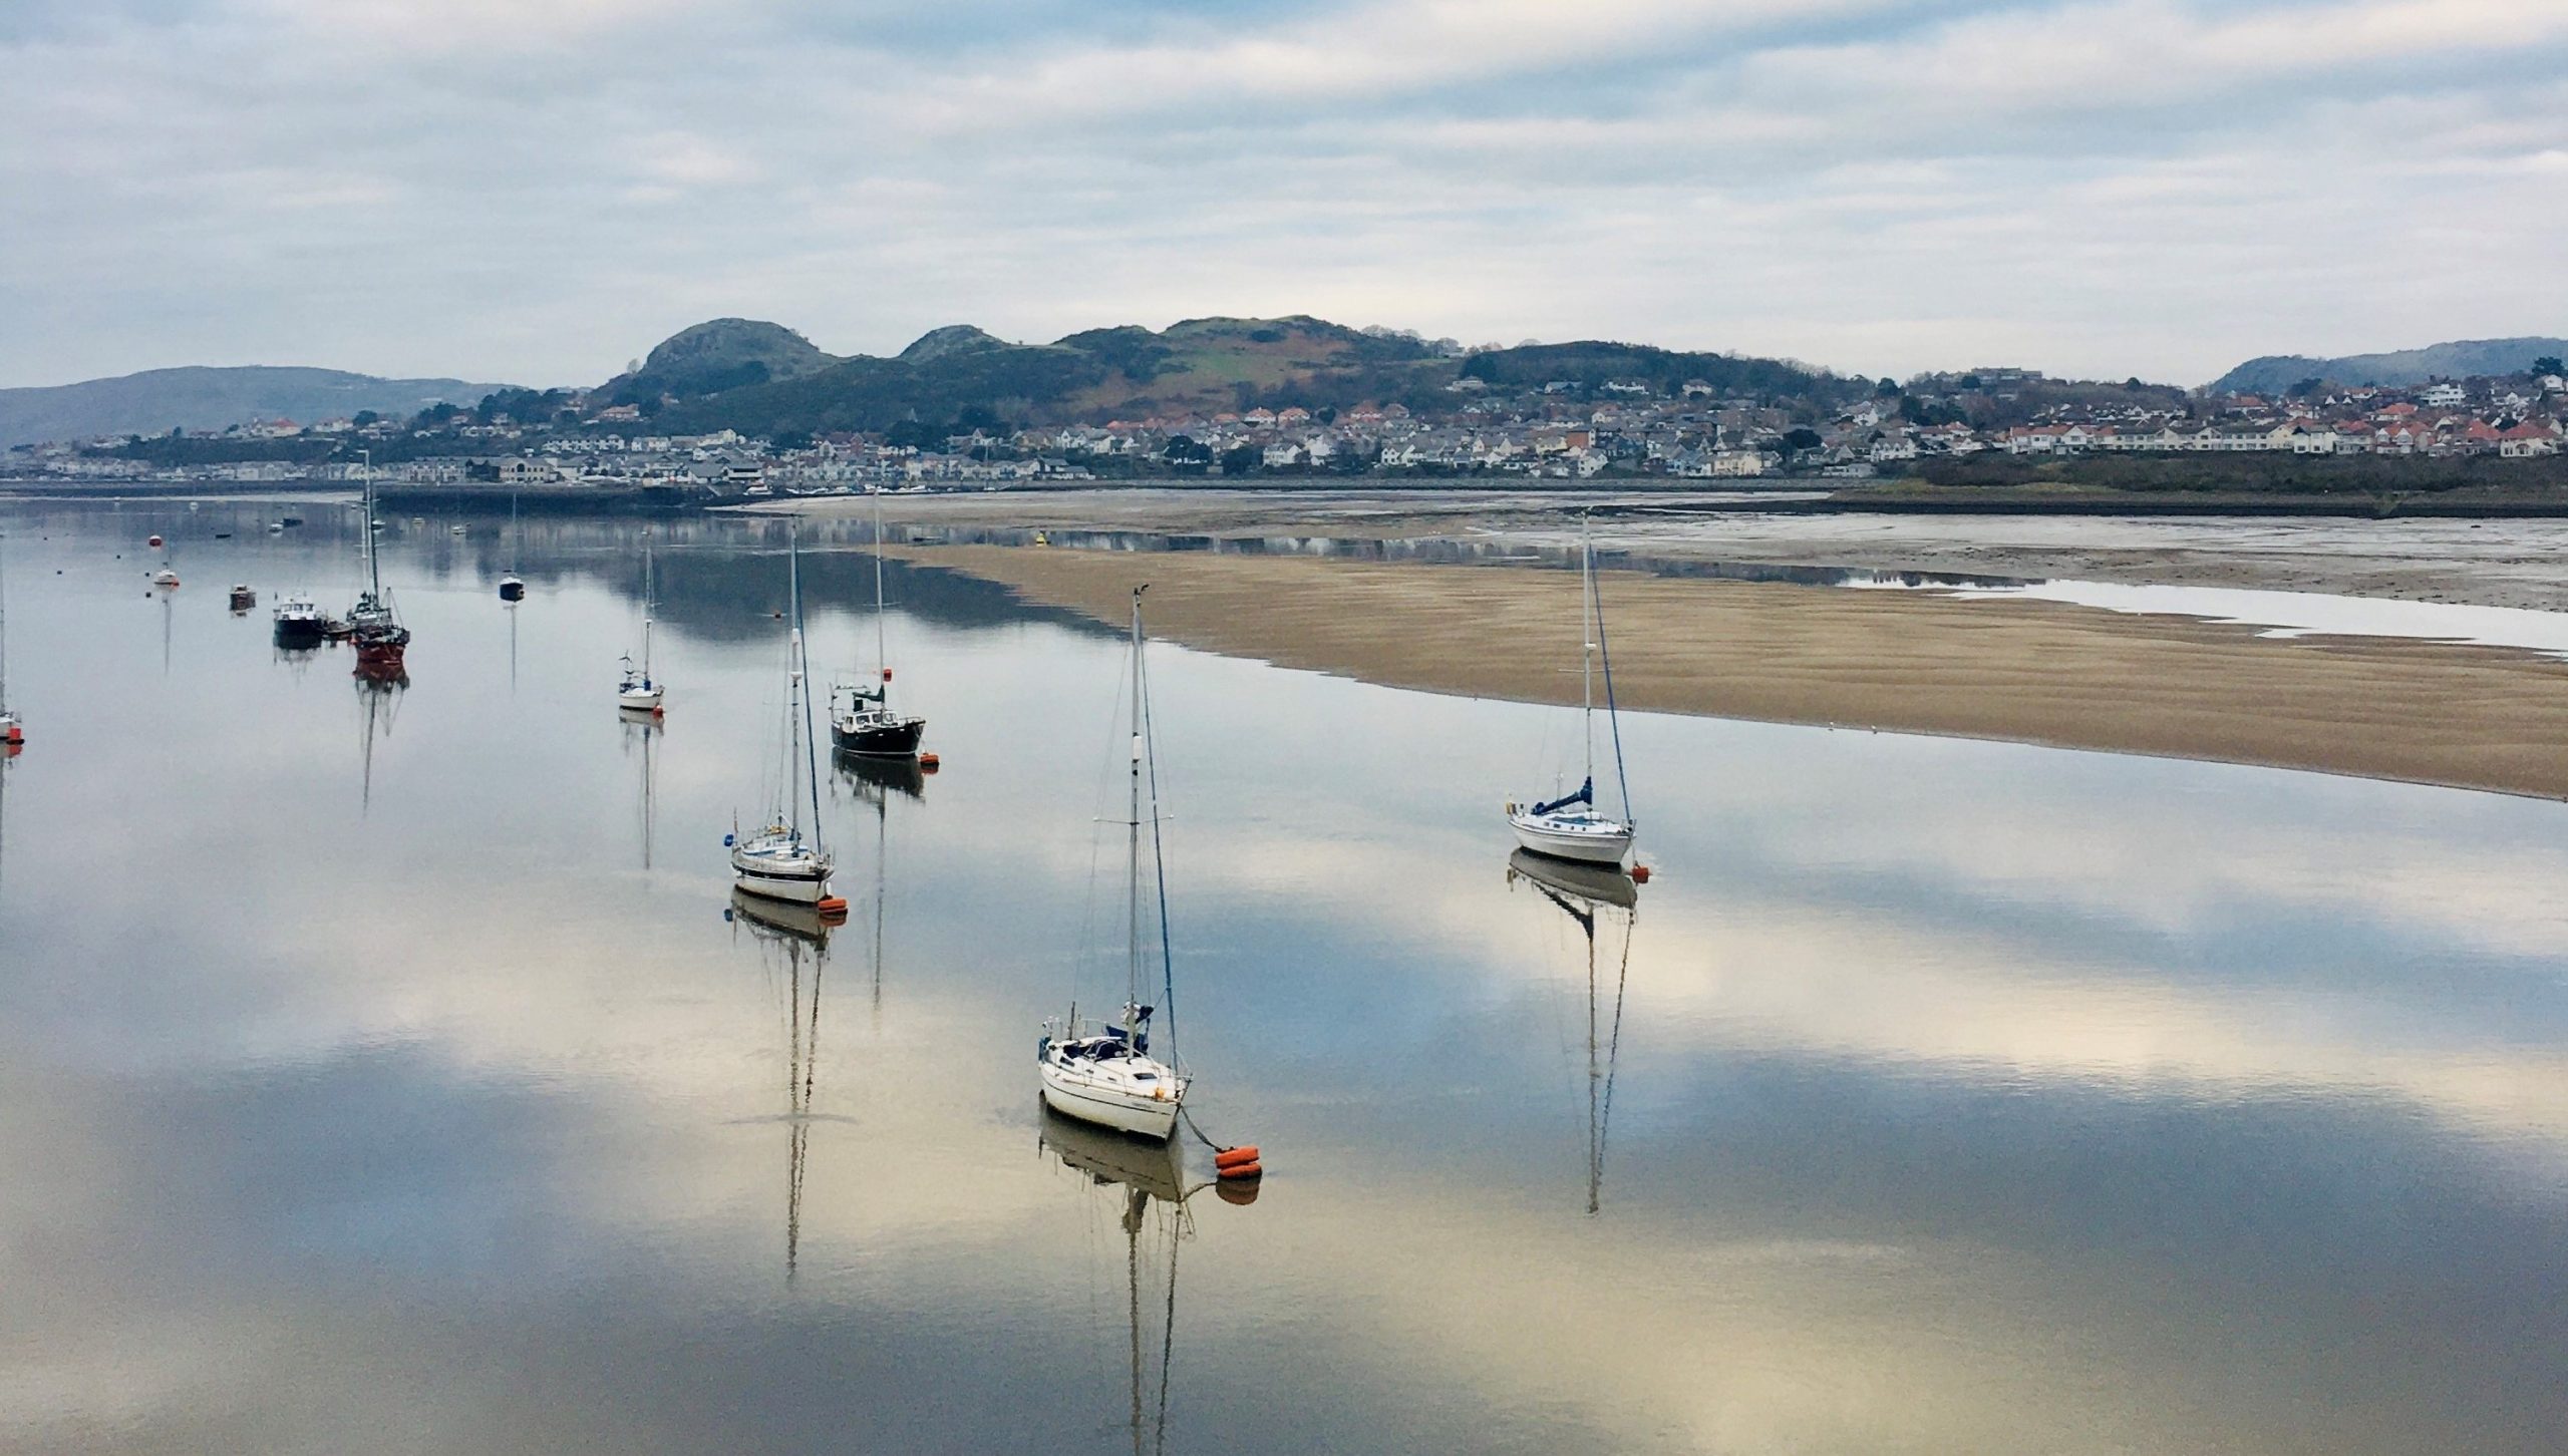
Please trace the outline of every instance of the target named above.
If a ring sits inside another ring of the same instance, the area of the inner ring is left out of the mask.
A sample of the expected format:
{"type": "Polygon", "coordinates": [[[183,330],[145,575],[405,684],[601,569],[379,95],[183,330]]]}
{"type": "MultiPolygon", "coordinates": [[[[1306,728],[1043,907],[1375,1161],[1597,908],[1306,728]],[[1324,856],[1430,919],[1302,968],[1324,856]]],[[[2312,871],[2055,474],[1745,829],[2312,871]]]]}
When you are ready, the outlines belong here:
{"type": "Polygon", "coordinates": [[[223,429],[254,419],[316,424],[362,408],[406,419],[439,401],[473,403],[503,388],[508,385],[265,365],[144,370],[113,380],[0,390],[0,449],[100,434],[169,434],[172,426],[223,429]]]}

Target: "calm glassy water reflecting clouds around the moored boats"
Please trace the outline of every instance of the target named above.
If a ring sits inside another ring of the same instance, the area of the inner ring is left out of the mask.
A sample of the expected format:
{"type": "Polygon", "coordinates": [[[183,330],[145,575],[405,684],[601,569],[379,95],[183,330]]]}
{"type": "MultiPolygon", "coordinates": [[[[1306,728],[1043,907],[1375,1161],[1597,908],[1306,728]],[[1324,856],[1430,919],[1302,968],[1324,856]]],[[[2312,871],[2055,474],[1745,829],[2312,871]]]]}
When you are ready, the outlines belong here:
{"type": "MultiPolygon", "coordinates": [[[[1109,632],[894,573],[945,770],[829,773],[814,945],[727,914],[722,853],[778,758],[781,526],[663,544],[647,732],[637,526],[529,524],[511,611],[488,521],[401,524],[411,686],[367,696],[270,647],[277,588],[352,596],[352,521],[300,511],[0,516],[0,1448],[2568,1430],[2558,804],[1633,716],[1623,912],[1507,876],[1564,714],[1161,647],[1179,1045],[1271,1168],[1238,1207],[1186,1197],[1202,1145],[1035,1107],[1037,1022],[1120,963],[1109,632]]],[[[814,657],[865,663],[871,557],[804,565],[814,657]]]]}

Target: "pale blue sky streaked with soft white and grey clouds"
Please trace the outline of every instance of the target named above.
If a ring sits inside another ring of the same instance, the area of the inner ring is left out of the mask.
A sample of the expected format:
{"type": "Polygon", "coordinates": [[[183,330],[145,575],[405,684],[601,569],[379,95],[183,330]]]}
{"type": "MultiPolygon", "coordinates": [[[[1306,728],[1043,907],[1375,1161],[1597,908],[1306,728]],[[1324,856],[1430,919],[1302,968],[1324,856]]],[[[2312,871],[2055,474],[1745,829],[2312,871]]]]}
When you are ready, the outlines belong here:
{"type": "Polygon", "coordinates": [[[2568,334],[2568,0],[5,0],[0,385],[1317,313],[2206,383],[2568,334]]]}

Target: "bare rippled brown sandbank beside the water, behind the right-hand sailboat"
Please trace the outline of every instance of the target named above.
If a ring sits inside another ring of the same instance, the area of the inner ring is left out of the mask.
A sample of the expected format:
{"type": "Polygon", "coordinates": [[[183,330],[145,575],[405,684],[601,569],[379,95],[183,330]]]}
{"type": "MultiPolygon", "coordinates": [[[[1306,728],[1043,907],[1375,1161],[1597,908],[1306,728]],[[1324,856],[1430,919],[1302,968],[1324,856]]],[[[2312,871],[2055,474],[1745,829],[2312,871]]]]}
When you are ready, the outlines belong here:
{"type": "MultiPolygon", "coordinates": [[[[1397,688],[1577,701],[1579,580],[1320,557],[901,547],[1120,624],[1397,688]]],[[[1605,573],[1623,706],[2568,799],[2568,663],[2044,601],[1605,573]]]]}

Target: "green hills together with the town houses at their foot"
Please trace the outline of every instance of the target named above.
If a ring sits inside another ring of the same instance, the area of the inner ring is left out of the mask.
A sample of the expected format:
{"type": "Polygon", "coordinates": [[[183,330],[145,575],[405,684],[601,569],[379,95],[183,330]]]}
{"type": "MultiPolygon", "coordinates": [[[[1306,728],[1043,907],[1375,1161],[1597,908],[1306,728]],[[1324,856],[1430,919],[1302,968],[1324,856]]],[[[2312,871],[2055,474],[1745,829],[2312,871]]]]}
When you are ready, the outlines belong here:
{"type": "MultiPolygon", "coordinates": [[[[1053,344],[950,326],[881,360],[727,318],[598,388],[56,439],[10,449],[5,472],[331,483],[367,457],[421,485],[704,496],[1353,475],[1967,485],[2018,483],[2024,462],[2542,460],[2568,444],[2563,416],[2558,357],[2396,388],[2301,380],[2268,395],[2021,367],[1864,380],[1615,342],[1464,349],[1317,318],[1202,318],[1053,344]]],[[[2162,478],[2201,488],[2219,472],[2162,478]]],[[[2434,480],[2460,478],[2419,475],[2422,488],[2434,480]]]]}

